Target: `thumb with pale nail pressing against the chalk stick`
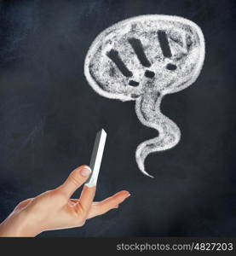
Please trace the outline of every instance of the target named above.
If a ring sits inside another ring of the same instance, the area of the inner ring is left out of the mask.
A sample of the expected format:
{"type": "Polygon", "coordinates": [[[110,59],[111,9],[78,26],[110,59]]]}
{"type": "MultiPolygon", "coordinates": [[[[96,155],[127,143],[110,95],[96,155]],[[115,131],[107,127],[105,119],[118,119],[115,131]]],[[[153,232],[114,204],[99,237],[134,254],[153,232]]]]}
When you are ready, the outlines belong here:
{"type": "Polygon", "coordinates": [[[65,183],[60,185],[57,189],[65,193],[69,199],[72,194],[88,179],[90,173],[91,169],[89,166],[79,166],[71,172],[65,183]]]}

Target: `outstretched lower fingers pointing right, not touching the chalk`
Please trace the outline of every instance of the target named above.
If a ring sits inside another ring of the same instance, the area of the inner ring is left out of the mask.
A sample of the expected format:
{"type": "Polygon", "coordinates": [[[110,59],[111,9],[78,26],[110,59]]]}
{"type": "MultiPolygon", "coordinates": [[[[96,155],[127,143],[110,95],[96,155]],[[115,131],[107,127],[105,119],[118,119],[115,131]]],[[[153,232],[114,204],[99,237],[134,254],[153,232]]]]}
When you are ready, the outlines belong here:
{"type": "Polygon", "coordinates": [[[95,216],[104,214],[113,208],[118,208],[118,205],[129,196],[130,192],[124,190],[106,198],[103,201],[94,203],[92,207],[90,207],[87,218],[94,218],[95,216]]]}

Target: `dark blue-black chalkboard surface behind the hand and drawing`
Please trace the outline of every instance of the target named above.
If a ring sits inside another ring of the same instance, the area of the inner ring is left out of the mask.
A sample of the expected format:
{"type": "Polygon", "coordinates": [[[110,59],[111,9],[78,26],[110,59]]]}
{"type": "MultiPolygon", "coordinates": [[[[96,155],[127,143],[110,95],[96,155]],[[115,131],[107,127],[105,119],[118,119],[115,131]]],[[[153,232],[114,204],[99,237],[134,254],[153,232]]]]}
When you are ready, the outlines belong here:
{"type": "Polygon", "coordinates": [[[88,164],[104,128],[96,200],[121,189],[129,200],[82,228],[40,236],[235,236],[235,17],[233,0],[1,1],[0,220],[88,164]],[[99,96],[83,75],[98,33],[145,14],[193,20],[206,44],[199,79],[162,102],[182,136],[148,156],[154,179],[137,168],[135,149],[156,131],[141,125],[135,102],[99,96]]]}

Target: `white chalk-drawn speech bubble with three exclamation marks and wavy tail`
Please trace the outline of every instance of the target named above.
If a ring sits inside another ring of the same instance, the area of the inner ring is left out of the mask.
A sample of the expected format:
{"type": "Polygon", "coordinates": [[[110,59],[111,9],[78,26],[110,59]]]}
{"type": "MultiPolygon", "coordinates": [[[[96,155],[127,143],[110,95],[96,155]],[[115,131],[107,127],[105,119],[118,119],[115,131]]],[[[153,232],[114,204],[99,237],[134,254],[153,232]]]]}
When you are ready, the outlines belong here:
{"type": "Polygon", "coordinates": [[[101,96],[135,100],[143,125],[158,137],[141,143],[136,161],[141,172],[148,154],[173,148],[181,138],[178,126],[160,111],[166,94],[187,88],[204,62],[204,36],[191,20],[168,15],[142,15],[123,20],[95,38],[84,73],[101,96]]]}

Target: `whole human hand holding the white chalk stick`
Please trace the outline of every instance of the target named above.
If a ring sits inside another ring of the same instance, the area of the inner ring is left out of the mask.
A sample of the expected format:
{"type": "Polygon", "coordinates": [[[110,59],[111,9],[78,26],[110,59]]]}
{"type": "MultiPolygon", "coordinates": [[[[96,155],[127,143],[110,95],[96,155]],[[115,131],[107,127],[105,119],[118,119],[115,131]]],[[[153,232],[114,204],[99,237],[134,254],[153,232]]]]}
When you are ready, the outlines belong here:
{"type": "Polygon", "coordinates": [[[84,185],[79,199],[71,199],[90,173],[89,166],[79,166],[58,188],[21,201],[0,224],[0,237],[37,236],[45,230],[80,227],[87,219],[118,208],[130,196],[123,190],[103,201],[93,202],[95,186],[89,188],[84,185]]]}

